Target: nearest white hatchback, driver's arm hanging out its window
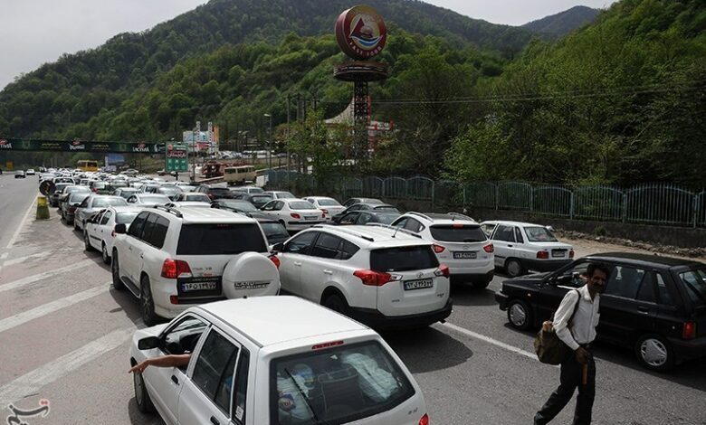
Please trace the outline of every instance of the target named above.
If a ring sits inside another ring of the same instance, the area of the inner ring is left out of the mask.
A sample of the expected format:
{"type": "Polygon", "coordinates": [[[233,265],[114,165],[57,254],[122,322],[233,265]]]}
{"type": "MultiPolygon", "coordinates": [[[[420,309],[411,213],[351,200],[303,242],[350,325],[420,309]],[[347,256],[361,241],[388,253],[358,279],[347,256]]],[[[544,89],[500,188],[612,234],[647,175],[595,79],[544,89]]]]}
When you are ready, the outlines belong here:
{"type": "Polygon", "coordinates": [[[232,299],[138,330],[130,365],[139,411],[168,424],[428,424],[415,378],[380,335],[297,297],[232,299]]]}

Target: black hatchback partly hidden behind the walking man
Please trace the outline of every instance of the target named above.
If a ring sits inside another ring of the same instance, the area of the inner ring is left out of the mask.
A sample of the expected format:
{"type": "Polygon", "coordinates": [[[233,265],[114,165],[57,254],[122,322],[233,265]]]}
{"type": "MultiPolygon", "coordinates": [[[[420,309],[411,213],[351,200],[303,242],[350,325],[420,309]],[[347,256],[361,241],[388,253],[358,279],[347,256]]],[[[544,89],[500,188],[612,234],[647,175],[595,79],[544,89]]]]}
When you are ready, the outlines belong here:
{"type": "Polygon", "coordinates": [[[510,326],[530,329],[549,319],[568,290],[584,285],[592,261],[612,269],[600,297],[598,339],[634,350],[656,371],[706,356],[706,265],[691,260],[613,252],[505,280],[495,299],[510,326]]]}

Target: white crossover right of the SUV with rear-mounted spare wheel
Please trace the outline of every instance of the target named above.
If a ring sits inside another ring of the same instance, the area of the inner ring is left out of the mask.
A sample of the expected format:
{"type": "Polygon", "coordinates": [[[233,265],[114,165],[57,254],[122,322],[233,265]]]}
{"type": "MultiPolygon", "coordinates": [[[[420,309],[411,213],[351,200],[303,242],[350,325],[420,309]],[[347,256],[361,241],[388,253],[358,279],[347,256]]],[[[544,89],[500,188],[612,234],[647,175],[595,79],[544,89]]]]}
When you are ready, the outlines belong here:
{"type": "Polygon", "coordinates": [[[451,314],[448,268],[404,230],[318,225],[274,250],[283,291],[369,326],[429,326],[451,314]]]}

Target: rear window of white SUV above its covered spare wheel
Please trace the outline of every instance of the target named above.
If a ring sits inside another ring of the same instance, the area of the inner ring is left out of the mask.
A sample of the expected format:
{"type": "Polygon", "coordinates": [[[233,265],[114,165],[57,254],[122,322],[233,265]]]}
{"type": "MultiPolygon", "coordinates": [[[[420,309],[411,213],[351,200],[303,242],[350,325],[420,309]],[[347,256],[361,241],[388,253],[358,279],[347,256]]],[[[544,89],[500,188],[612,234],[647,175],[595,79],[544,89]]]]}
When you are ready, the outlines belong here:
{"type": "Polygon", "coordinates": [[[176,254],[235,255],[243,252],[267,252],[257,223],[185,224],[179,235],[176,254]]]}

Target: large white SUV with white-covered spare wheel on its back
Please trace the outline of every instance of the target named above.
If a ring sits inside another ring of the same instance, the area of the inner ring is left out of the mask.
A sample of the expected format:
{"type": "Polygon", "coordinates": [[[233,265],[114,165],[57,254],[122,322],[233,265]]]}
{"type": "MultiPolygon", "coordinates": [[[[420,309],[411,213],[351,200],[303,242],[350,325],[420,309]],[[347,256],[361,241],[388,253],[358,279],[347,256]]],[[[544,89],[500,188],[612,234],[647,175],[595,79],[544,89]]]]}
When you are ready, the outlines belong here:
{"type": "Polygon", "coordinates": [[[148,326],[194,304],[275,295],[276,258],[257,221],[211,208],[157,206],[115,226],[113,285],[140,299],[148,326]]]}

